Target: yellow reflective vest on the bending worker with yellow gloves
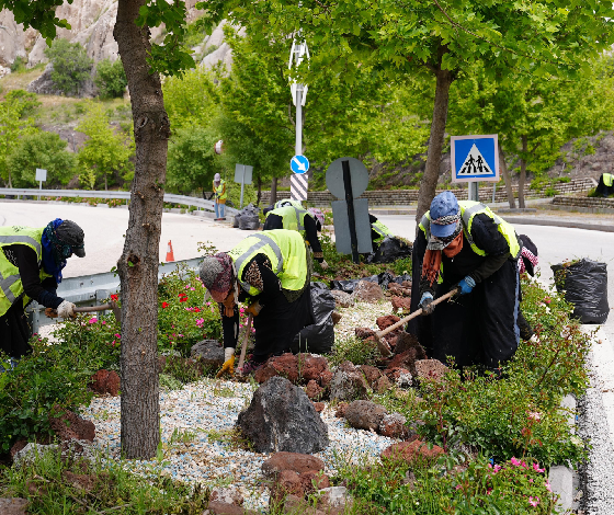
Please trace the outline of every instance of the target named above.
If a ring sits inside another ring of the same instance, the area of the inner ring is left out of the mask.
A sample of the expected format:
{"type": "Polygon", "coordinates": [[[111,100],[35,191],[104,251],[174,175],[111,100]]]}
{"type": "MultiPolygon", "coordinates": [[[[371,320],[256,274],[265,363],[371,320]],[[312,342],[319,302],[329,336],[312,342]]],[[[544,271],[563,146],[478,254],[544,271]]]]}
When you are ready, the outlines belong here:
{"type": "Polygon", "coordinates": [[[307,278],[307,252],[305,242],[296,231],[275,229],[259,234],[249,236],[236,245],[228,255],[235,262],[241,288],[250,296],[260,294],[260,290],[240,281],[243,268],[258,253],[265,254],[271,261],[275,275],[282,283],[282,288],[300,290],[307,278]]]}

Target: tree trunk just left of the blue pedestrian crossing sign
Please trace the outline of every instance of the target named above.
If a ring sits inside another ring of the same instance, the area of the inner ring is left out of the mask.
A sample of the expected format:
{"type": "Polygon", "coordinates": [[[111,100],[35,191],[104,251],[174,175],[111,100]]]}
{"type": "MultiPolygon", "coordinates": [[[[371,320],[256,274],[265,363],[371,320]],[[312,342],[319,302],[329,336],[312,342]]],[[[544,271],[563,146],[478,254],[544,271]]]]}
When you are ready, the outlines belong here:
{"type": "Polygon", "coordinates": [[[431,137],[429,139],[429,153],[427,154],[427,167],[424,175],[420,181],[420,193],[418,194],[418,209],[416,221],[420,221],[422,215],[429,210],[431,201],[435,196],[437,181],[440,179],[441,152],[447,119],[447,103],[450,98],[450,84],[454,80],[450,70],[435,71],[436,89],[435,103],[433,106],[433,122],[431,123],[431,137]]]}

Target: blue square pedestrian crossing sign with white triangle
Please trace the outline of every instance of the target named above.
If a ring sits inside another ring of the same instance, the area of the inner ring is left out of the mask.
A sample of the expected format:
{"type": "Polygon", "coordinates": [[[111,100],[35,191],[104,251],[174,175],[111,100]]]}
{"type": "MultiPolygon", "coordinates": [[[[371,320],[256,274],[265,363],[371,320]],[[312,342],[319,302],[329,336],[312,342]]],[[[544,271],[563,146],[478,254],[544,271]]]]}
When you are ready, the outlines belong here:
{"type": "Polygon", "coordinates": [[[452,182],[499,181],[499,146],[496,134],[452,136],[452,182]]]}

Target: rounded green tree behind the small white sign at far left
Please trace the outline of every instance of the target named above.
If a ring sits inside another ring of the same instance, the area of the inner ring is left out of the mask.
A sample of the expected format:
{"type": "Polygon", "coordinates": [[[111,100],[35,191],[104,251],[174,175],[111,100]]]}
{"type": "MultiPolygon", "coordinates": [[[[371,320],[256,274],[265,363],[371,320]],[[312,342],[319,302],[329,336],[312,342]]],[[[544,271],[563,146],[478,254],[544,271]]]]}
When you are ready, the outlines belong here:
{"type": "Polygon", "coordinates": [[[66,184],[76,173],[77,157],[66,150],[67,142],[44,130],[23,136],[7,157],[15,187],[37,187],[36,169],[47,170],[45,187],[66,184]]]}

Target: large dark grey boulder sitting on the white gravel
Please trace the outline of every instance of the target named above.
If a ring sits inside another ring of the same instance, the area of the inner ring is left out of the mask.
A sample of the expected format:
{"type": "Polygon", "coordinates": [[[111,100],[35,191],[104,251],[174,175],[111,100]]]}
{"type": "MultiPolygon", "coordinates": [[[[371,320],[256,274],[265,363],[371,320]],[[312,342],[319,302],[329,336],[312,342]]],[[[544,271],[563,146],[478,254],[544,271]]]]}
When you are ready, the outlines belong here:
{"type": "Polygon", "coordinates": [[[329,445],[328,428],[305,392],[283,377],[272,377],[255,392],[237,425],[257,453],[312,454],[329,445]]]}

